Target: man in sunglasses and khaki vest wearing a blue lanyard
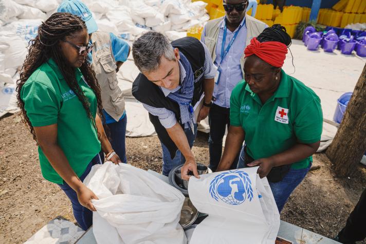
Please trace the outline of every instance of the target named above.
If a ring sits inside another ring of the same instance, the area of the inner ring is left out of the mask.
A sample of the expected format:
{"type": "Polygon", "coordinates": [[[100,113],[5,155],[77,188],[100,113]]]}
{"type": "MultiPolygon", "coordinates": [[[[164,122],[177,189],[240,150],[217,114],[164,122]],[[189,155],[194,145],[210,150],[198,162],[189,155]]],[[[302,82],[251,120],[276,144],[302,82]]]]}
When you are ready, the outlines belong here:
{"type": "MultiPolygon", "coordinates": [[[[223,4],[225,16],[209,21],[201,37],[218,68],[209,113],[209,167],[212,171],[216,171],[221,159],[225,127],[230,126],[231,91],[244,78],[244,49],[254,36],[268,27],[246,14],[248,0],[224,0],[223,4]]],[[[236,167],[237,159],[233,167],[236,167]]]]}

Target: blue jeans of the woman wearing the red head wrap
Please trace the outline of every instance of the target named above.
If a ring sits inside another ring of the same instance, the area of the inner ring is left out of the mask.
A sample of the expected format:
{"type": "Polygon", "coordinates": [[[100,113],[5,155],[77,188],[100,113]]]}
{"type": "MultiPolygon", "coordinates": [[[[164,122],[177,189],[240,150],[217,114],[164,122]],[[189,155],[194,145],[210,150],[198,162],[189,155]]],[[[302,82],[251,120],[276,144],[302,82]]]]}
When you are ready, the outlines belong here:
{"type": "MultiPolygon", "coordinates": [[[[244,146],[240,153],[239,162],[237,163],[237,168],[245,167],[244,163],[244,146]]],[[[281,213],[283,206],[285,205],[288,197],[291,195],[292,191],[301,183],[301,181],[305,178],[307,172],[309,171],[312,163],[309,164],[307,168],[302,168],[300,170],[295,170],[294,168],[290,168],[289,172],[286,176],[279,182],[269,182],[269,186],[271,187],[272,194],[274,197],[274,201],[276,201],[276,205],[278,211],[281,213]]]]}

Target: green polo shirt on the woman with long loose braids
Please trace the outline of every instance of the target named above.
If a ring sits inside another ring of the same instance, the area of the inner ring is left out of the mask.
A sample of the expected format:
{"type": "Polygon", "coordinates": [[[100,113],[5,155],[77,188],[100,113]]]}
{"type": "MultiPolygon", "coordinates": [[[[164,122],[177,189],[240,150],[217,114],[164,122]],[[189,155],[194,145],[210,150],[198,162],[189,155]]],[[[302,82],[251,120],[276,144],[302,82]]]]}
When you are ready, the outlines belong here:
{"type": "MultiPolygon", "coordinates": [[[[95,93],[84,82],[79,68],[75,70],[75,76],[95,118],[95,93]]],[[[97,131],[82,103],[67,85],[59,67],[52,59],[31,74],[21,90],[21,99],[33,127],[57,124],[57,143],[74,172],[80,177],[91,159],[100,152],[101,145],[97,131]]],[[[62,184],[63,179],[53,169],[41,147],[38,147],[38,153],[43,177],[62,184]]]]}

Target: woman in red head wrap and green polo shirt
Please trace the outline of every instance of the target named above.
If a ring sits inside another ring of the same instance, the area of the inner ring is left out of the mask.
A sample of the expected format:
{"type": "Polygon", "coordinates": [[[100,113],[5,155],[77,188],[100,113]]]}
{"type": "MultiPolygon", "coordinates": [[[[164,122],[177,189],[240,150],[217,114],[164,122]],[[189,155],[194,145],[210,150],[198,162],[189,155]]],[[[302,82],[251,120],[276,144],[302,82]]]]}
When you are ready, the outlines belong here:
{"type": "Polygon", "coordinates": [[[259,166],[281,212],[312,165],[323,115],[315,92],[283,70],[291,38],[273,25],[244,51],[244,80],[230,98],[230,128],[217,171],[228,170],[243,146],[238,168],[259,166]]]}

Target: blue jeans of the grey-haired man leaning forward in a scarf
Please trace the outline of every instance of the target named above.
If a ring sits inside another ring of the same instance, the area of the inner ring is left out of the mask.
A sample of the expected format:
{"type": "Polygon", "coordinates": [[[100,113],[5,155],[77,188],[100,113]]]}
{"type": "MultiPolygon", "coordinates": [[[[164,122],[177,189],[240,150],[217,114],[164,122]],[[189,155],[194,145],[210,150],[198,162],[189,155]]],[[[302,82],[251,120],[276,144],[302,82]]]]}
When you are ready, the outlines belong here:
{"type": "MultiPolygon", "coordinates": [[[[192,148],[194,139],[196,139],[197,135],[197,124],[194,124],[194,133],[192,129],[186,128],[184,129],[184,133],[187,136],[188,144],[192,148]]],[[[172,159],[170,157],[170,153],[168,148],[160,141],[162,148],[162,174],[168,176],[169,172],[176,166],[180,164],[184,164],[186,162],[185,157],[180,153],[179,149],[175,153],[175,157],[172,159]]]]}

